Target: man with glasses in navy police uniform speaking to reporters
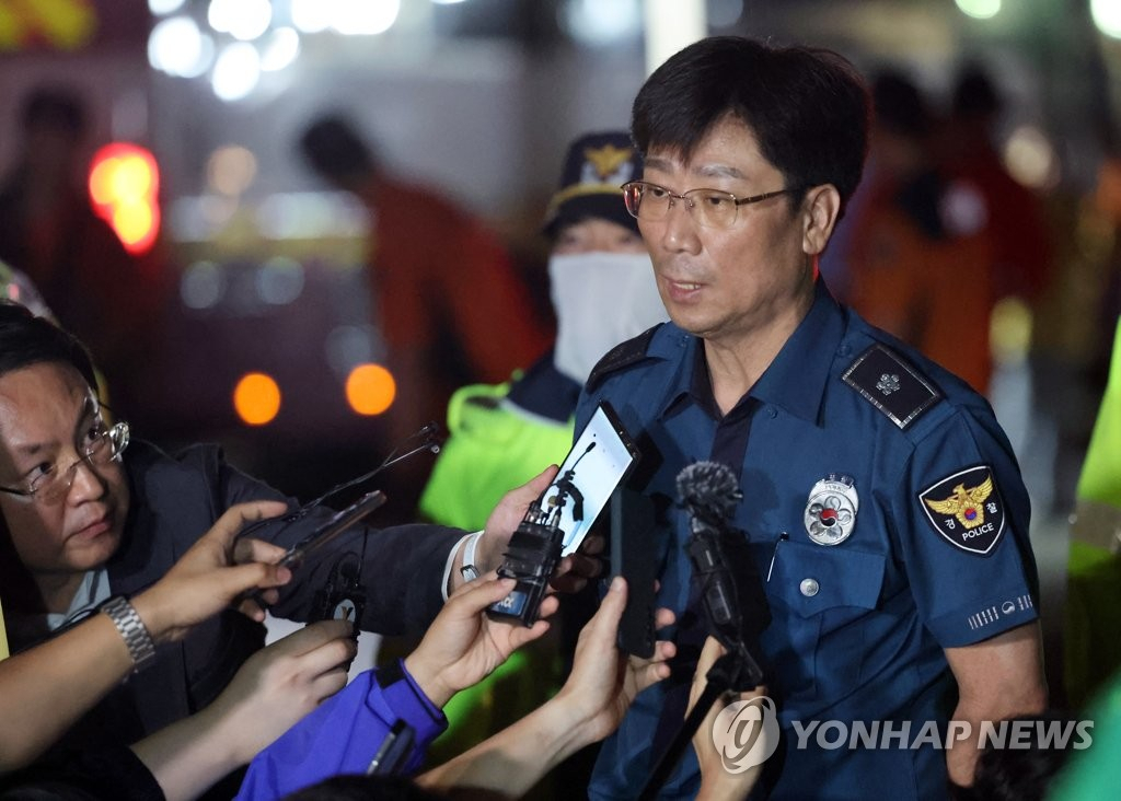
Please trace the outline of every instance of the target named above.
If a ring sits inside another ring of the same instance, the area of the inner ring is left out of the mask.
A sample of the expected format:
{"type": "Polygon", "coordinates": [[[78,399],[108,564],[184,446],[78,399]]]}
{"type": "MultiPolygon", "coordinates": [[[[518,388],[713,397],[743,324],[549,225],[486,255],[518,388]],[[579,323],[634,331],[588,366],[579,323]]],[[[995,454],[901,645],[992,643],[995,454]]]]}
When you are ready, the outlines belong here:
{"type": "MultiPolygon", "coordinates": [[[[608,400],[642,444],[628,482],[656,515],[657,605],[680,622],[683,680],[638,698],[593,799],[633,798],[683,726],[707,623],[675,479],[696,460],[736,476],[730,523],[766,584],[758,655],[782,730],[770,798],[945,798],[947,773],[972,781],[981,720],[1046,705],[1028,497],[992,410],[818,274],[868,112],[841,56],[733,37],[673,56],[634,101],[645,170],[623,199],[671,322],[603,358],[576,430],[608,400]],[[948,709],[972,737],[945,751],[948,709]],[[858,721],[872,743],[840,742],[858,721]]],[[[698,782],[688,754],[664,797],[698,782]]]]}

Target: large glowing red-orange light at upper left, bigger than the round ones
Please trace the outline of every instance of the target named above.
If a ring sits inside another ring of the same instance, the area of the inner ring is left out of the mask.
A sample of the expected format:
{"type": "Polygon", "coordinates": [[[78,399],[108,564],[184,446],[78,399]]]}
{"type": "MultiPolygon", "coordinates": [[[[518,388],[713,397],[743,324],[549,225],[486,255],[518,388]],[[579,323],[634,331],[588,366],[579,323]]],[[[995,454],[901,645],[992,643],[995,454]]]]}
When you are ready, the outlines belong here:
{"type": "Polygon", "coordinates": [[[90,167],[90,199],[130,253],[143,253],[159,233],[159,168],[141,147],[113,142],[90,167]]]}

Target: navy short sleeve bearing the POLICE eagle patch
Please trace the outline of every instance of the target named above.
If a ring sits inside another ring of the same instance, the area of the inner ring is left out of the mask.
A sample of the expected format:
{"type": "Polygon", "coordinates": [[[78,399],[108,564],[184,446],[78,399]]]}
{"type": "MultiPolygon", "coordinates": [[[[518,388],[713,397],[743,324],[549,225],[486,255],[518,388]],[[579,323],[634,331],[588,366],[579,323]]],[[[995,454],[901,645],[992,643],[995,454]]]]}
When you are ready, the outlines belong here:
{"type": "Polygon", "coordinates": [[[896,503],[911,592],[943,648],[1038,617],[1028,494],[991,416],[958,410],[921,439],[896,503]]]}

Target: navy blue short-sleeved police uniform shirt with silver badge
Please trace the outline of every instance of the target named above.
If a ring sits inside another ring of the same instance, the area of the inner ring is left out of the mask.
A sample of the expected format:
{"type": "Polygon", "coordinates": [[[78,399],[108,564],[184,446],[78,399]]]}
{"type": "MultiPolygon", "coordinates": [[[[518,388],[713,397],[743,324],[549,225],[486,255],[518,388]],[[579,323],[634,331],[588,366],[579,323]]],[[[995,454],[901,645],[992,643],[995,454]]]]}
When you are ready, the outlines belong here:
{"type": "MultiPolygon", "coordinates": [[[[809,314],[728,416],[715,408],[703,343],[671,323],[604,356],[581,397],[577,431],[600,400],[642,449],[630,483],[658,515],[658,603],[678,614],[679,651],[703,642],[705,622],[686,613],[688,520],[676,477],[705,459],[739,473],[733,523],[766,581],[772,621],[761,649],[781,726],[760,794],[944,798],[945,753],[920,737],[953,709],[943,649],[1037,617],[1028,495],[988,402],[839,306],[821,280],[809,314]],[[844,728],[821,739],[814,730],[799,747],[798,732],[831,720],[844,728]],[[889,747],[864,747],[874,721],[891,721],[879,729],[896,733],[889,747]],[[850,739],[835,746],[842,733],[850,739]]],[[[692,669],[679,665],[638,697],[601,749],[593,799],[633,798],[643,786],[667,695],[675,682],[687,692],[692,669]]],[[[664,786],[665,798],[696,793],[692,748],[664,786]]]]}

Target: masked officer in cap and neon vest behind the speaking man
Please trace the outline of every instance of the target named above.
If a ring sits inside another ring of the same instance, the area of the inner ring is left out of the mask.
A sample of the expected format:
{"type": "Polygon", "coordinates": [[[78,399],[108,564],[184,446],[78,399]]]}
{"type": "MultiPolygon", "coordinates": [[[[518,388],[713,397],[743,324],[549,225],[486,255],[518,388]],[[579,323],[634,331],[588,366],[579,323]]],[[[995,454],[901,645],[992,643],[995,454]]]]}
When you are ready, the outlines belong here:
{"type": "Polygon", "coordinates": [[[667,319],[620,189],[641,171],[623,131],[587,133],[569,145],[544,225],[556,342],[511,381],[464,386],[452,397],[451,436],[420,497],[425,516],[481,529],[502,487],[564,459],[580,390],[603,354],[667,319]]]}

